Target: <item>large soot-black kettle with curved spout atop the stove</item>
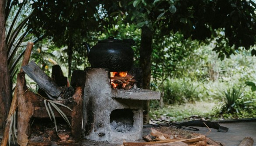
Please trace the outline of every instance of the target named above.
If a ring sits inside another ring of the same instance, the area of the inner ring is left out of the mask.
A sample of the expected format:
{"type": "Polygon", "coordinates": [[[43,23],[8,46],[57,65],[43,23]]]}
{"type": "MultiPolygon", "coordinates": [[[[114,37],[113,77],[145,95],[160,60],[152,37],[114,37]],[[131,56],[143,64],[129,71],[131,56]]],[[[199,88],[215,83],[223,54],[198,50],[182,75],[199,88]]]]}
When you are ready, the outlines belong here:
{"type": "Polygon", "coordinates": [[[107,40],[99,40],[90,48],[83,42],[87,49],[87,57],[91,67],[108,68],[110,71],[129,71],[133,65],[133,50],[135,45],[132,39],[117,40],[109,36],[107,40]]]}

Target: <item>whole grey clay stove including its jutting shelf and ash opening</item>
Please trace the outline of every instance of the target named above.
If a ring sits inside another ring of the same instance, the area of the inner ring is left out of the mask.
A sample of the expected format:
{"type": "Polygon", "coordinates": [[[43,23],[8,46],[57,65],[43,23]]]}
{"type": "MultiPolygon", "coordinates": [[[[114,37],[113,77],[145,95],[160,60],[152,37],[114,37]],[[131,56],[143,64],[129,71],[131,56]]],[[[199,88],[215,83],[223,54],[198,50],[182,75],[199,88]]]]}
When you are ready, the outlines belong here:
{"type": "MultiPolygon", "coordinates": [[[[159,100],[160,93],[141,89],[139,82],[136,89],[114,89],[107,68],[84,71],[83,138],[112,143],[142,139],[142,101],[159,100]]],[[[140,68],[133,73],[137,81],[142,80],[140,68]]]]}

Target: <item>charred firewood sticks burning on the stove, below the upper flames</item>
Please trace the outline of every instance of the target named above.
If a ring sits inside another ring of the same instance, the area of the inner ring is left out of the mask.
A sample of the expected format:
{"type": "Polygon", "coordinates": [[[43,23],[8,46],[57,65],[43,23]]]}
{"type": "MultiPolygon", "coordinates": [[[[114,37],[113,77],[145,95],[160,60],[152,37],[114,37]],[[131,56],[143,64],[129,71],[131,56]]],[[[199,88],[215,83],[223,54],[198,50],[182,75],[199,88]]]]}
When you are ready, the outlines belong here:
{"type": "Polygon", "coordinates": [[[131,89],[136,82],[134,76],[114,76],[110,79],[115,89],[131,89]]]}

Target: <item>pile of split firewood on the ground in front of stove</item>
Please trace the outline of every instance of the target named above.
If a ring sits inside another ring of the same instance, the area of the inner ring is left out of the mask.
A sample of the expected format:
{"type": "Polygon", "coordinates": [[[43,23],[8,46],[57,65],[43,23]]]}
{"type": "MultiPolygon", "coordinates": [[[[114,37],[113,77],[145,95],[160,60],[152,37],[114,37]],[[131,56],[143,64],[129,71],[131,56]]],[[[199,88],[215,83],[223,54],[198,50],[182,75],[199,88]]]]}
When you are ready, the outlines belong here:
{"type": "Polygon", "coordinates": [[[214,140],[199,133],[191,133],[190,131],[174,128],[169,129],[169,131],[175,131],[173,134],[166,134],[160,132],[162,130],[152,128],[149,135],[143,136],[143,139],[148,142],[124,142],[123,146],[221,146],[214,140]],[[180,135],[176,135],[177,133],[180,133],[180,135]]]}

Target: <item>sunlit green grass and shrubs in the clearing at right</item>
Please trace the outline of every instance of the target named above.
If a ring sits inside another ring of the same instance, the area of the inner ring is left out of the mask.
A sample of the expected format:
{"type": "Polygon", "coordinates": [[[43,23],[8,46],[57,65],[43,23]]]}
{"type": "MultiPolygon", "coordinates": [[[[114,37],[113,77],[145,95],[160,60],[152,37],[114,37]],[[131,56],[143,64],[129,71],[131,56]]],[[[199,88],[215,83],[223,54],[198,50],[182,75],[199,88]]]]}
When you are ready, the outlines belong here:
{"type": "Polygon", "coordinates": [[[157,101],[151,102],[151,119],[184,121],[195,115],[196,119],[209,120],[256,117],[256,93],[246,86],[255,83],[256,58],[241,51],[220,61],[218,54],[208,49],[206,46],[194,51],[193,60],[200,62],[177,66],[183,68],[183,76],[176,74],[178,77],[164,81],[164,90],[160,91],[164,91],[166,105],[159,107],[157,101]],[[197,52],[205,56],[197,56],[197,52]]]}

